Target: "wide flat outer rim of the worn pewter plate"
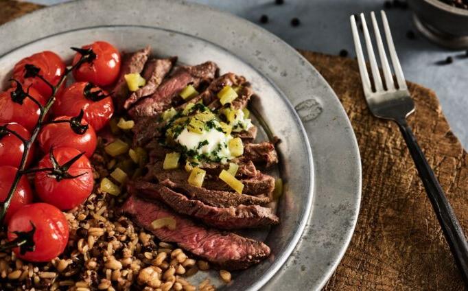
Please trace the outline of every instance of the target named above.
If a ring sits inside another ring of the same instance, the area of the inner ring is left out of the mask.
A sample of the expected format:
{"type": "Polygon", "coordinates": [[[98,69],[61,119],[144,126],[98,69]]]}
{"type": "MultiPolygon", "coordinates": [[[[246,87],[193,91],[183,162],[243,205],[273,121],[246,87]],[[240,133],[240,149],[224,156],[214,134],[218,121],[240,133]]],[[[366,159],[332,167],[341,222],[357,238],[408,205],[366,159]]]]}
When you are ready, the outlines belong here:
{"type": "MultiPolygon", "coordinates": [[[[304,123],[314,154],[314,165],[316,165],[312,215],[300,243],[296,246],[287,264],[274,279],[264,286],[264,289],[274,290],[287,286],[295,286],[298,290],[322,288],[338,266],[351,240],[358,218],[361,195],[361,165],[358,145],[349,119],[334,92],[312,65],[309,65],[307,60],[297,51],[277,36],[244,19],[204,5],[184,1],[136,0],[128,2],[124,0],[72,1],[38,10],[0,27],[0,38],[10,40],[8,43],[0,43],[0,53],[3,54],[5,51],[27,43],[30,40],[30,34],[22,34],[23,31],[34,31],[34,35],[40,38],[54,34],[54,32],[82,26],[149,25],[184,32],[221,45],[253,65],[285,93],[297,93],[298,91],[301,93],[303,90],[302,93],[312,92],[313,95],[318,95],[316,104],[320,110],[323,109],[323,113],[320,114],[320,111],[318,116],[312,118],[313,120],[310,119],[304,123]],[[77,17],[77,11],[82,10],[88,10],[86,11],[88,15],[83,14],[77,17]],[[110,12],[110,10],[112,11],[110,12]],[[196,16],[202,21],[189,15],[188,19],[183,21],[184,23],[178,23],[174,21],[174,15],[177,14],[178,10],[191,12],[196,10],[196,16]],[[152,14],[142,13],[142,11],[150,11],[152,14]],[[174,13],[161,13],[168,11],[174,13]],[[67,13],[75,15],[75,18],[67,18],[67,13]],[[136,14],[139,15],[137,19],[134,17],[136,14]],[[158,17],[154,17],[154,15],[158,17]],[[62,21],[58,25],[56,19],[67,19],[67,21],[62,21]],[[219,25],[210,25],[215,21],[218,21],[219,25]],[[39,22],[41,23],[40,27],[36,27],[36,23],[39,22]],[[233,33],[238,39],[249,39],[250,42],[243,43],[242,46],[225,43],[224,39],[220,37],[220,32],[233,33]],[[255,49],[258,49],[258,55],[255,49]],[[274,59],[275,55],[278,54],[281,55],[281,59],[274,59]],[[271,59],[267,60],[265,57],[271,59]],[[279,66],[280,69],[287,67],[281,66],[284,65],[283,61],[292,64],[297,73],[285,70],[284,72],[288,71],[289,75],[282,75],[283,72],[281,72],[280,76],[280,72],[274,71],[274,65],[279,66]],[[291,81],[294,80],[294,77],[300,81],[298,84],[294,84],[296,88],[292,88],[291,81]],[[285,84],[286,81],[289,81],[289,84],[285,84]],[[336,142],[328,142],[325,145],[322,140],[336,140],[336,142]],[[329,148],[331,153],[327,153],[324,148],[329,148]],[[317,157],[318,159],[316,159],[317,157]],[[340,176],[340,179],[337,180],[331,174],[333,171],[338,173],[336,175],[340,176]],[[349,175],[347,175],[348,173],[349,175]],[[344,186],[346,189],[343,189],[344,186]],[[337,200],[342,201],[342,203],[337,202],[337,200]],[[314,240],[310,239],[312,235],[315,235],[314,240]],[[312,253],[310,255],[312,257],[307,259],[306,254],[306,259],[304,259],[303,256],[301,257],[303,252],[312,253]],[[296,264],[296,261],[301,264],[296,264]]],[[[304,101],[299,95],[288,94],[288,97],[292,104],[297,105],[298,102],[304,101]]],[[[313,99],[315,100],[315,98],[313,99]]]]}

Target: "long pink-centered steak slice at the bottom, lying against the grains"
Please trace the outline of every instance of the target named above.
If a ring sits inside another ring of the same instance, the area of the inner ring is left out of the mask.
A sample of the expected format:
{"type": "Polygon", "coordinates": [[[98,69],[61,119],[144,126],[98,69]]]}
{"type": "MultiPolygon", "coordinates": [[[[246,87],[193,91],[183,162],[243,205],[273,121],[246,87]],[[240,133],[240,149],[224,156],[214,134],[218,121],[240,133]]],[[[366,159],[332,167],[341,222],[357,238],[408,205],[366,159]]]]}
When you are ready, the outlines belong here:
{"type": "Polygon", "coordinates": [[[248,268],[270,255],[270,248],[263,242],[250,240],[235,233],[207,229],[170,211],[159,202],[148,202],[132,195],[124,203],[121,211],[127,213],[139,226],[151,231],[159,240],[174,242],[180,248],[226,270],[248,268]],[[168,216],[176,220],[174,231],[165,227],[152,228],[151,222],[168,216]]]}

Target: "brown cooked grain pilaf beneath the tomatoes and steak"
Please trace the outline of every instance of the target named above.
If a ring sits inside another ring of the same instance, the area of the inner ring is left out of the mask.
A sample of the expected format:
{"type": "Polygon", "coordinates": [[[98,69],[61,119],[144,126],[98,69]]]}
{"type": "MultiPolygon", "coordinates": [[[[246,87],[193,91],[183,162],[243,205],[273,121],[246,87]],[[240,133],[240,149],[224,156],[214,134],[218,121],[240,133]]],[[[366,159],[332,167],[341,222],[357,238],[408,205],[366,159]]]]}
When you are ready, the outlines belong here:
{"type": "MultiPolygon", "coordinates": [[[[91,161],[96,181],[108,176],[102,150],[91,161]]],[[[209,279],[200,286],[188,281],[199,270],[209,270],[207,261],[159,242],[117,214],[127,194],[105,194],[95,185],[84,204],[66,213],[70,240],[62,255],[39,264],[23,262],[13,252],[0,253],[1,290],[215,290],[209,279]]],[[[0,240],[5,244],[5,231],[0,240]]],[[[223,270],[220,277],[228,282],[231,274],[223,270]]]]}

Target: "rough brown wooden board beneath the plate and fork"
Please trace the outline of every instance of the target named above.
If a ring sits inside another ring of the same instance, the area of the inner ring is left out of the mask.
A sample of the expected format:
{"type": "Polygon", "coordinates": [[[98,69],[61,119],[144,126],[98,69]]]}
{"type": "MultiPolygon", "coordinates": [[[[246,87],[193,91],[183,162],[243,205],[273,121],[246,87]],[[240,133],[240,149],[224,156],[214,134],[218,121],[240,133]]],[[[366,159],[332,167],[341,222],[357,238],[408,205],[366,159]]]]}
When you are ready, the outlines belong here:
{"type": "MultiPolygon", "coordinates": [[[[0,23],[40,8],[0,0],[0,23]]],[[[301,51],[329,82],[353,124],[362,156],[362,203],[353,239],[325,290],[463,290],[432,206],[395,124],[371,116],[358,64],[301,51]]],[[[468,229],[468,157],[450,131],[437,97],[409,83],[416,102],[410,125],[468,229]]]]}

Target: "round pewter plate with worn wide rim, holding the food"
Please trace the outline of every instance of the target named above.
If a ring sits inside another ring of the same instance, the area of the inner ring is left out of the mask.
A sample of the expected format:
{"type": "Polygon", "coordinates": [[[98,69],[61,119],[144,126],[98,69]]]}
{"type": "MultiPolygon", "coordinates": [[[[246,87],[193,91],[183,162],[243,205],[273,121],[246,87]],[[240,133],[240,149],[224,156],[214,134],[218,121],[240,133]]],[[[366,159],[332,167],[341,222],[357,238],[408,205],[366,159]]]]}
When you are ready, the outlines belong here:
{"type": "MultiPolygon", "coordinates": [[[[7,23],[0,27],[0,39],[8,39],[0,43],[0,68],[8,70],[34,51],[54,49],[67,56],[71,45],[107,39],[123,49],[152,44],[156,53],[176,54],[187,63],[215,60],[224,71],[246,75],[262,96],[261,104],[254,107],[283,139],[279,150],[288,189],[279,205],[282,223],[266,240],[272,257],[236,274],[226,288],[310,290],[321,288],[331,276],[358,216],[358,147],[336,95],[279,38],[235,16],[192,3],[85,0],[7,23]],[[303,119],[309,142],[283,95],[303,119]]],[[[0,70],[0,79],[7,73],[0,70]]]]}

